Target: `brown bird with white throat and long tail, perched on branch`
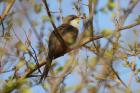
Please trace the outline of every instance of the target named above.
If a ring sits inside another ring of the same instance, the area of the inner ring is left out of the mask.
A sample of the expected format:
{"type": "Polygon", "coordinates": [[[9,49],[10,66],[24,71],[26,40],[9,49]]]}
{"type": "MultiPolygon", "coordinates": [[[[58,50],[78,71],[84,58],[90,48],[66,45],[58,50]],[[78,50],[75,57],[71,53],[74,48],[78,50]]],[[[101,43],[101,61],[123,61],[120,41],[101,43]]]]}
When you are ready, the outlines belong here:
{"type": "MultiPolygon", "coordinates": [[[[66,46],[71,46],[75,43],[78,36],[79,22],[82,17],[76,15],[69,15],[64,18],[63,24],[57,28],[60,36],[63,38],[66,46]]],[[[43,75],[40,78],[40,82],[48,75],[51,68],[52,60],[63,56],[66,53],[62,42],[57,38],[54,32],[51,33],[48,43],[48,56],[46,58],[46,65],[43,71],[43,75]]]]}

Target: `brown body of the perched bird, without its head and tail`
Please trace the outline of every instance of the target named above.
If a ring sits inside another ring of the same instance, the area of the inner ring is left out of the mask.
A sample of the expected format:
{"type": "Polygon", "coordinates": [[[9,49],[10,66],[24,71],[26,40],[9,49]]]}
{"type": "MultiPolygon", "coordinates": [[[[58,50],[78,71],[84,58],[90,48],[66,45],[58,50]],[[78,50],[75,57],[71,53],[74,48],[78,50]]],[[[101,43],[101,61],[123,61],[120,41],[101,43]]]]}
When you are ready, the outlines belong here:
{"type": "MultiPolygon", "coordinates": [[[[78,35],[78,29],[69,25],[69,24],[62,24],[57,28],[57,31],[62,36],[63,40],[67,44],[67,46],[70,46],[76,41],[77,35],[78,35]]],[[[57,57],[60,57],[65,54],[65,50],[63,49],[63,44],[58,40],[58,38],[55,36],[55,34],[52,32],[49,37],[49,53],[48,56],[52,57],[52,59],[55,59],[57,57]]]]}

